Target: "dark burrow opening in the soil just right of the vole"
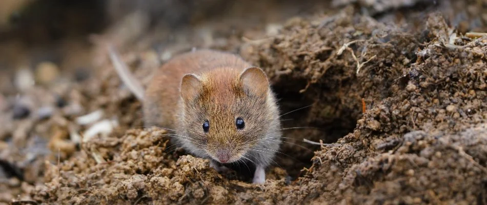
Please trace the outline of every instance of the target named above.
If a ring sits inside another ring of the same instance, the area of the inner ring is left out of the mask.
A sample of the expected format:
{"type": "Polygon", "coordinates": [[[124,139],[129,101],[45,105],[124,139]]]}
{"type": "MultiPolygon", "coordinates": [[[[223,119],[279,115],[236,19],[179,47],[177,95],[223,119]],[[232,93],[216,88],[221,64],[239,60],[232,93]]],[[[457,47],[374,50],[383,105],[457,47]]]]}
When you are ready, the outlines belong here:
{"type": "Polygon", "coordinates": [[[306,92],[299,93],[307,84],[305,79],[282,77],[273,85],[283,114],[282,127],[296,129],[284,130],[285,138],[282,138],[280,153],[276,154],[272,166],[286,169],[291,180],[299,176],[303,167],[311,166],[314,151],[320,149],[319,145],[311,145],[303,142],[303,139],[315,142],[321,139],[323,143],[332,143],[352,132],[356,126],[354,110],[342,109],[336,112],[335,109],[340,108],[332,106],[340,98],[322,99],[336,90],[336,85],[331,85],[333,88],[312,85],[306,92]]]}

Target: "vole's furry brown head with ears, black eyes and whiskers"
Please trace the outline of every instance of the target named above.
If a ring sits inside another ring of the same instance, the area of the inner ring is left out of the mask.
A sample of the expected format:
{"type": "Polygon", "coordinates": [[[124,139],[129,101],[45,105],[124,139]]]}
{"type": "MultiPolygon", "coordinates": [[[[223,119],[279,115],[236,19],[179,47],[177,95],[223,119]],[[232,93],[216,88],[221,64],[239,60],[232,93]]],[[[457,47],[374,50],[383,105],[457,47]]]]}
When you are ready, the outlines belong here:
{"type": "Polygon", "coordinates": [[[279,128],[269,80],[259,68],[187,74],[181,98],[180,123],[187,137],[181,142],[221,163],[249,160],[246,153],[279,128]]]}

